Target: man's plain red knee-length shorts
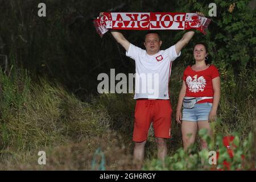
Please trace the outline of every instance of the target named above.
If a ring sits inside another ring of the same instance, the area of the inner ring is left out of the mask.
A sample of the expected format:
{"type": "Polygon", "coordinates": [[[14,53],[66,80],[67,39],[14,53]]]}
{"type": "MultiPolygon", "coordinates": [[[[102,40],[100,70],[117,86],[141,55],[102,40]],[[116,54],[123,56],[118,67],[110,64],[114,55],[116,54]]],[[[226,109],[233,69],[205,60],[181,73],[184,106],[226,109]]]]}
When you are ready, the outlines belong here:
{"type": "Polygon", "coordinates": [[[147,140],[151,122],[153,122],[155,137],[171,138],[171,116],[170,100],[137,100],[133,141],[143,142],[147,140]]]}

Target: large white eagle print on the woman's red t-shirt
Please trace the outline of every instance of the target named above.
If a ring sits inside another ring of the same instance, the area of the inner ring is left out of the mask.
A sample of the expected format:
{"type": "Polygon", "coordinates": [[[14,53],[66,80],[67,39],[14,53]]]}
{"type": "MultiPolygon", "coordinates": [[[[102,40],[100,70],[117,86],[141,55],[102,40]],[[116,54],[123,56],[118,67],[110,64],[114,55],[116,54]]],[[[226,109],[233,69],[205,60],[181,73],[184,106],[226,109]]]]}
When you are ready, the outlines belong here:
{"type": "Polygon", "coordinates": [[[196,92],[203,92],[205,85],[206,85],[206,80],[203,76],[200,76],[197,78],[197,75],[193,76],[193,79],[191,76],[188,76],[186,78],[186,82],[188,85],[188,90],[190,92],[196,93],[196,92]]]}

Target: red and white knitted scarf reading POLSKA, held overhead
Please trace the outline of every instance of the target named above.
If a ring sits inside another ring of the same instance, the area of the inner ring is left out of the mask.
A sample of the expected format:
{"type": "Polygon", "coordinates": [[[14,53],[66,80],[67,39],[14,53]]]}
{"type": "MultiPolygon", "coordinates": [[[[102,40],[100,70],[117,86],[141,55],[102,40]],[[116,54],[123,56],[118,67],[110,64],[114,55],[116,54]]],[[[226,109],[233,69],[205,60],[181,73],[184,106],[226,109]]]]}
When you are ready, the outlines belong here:
{"type": "Polygon", "coordinates": [[[108,29],[116,30],[188,30],[194,28],[206,34],[210,19],[196,13],[103,13],[94,20],[102,37],[108,29]]]}

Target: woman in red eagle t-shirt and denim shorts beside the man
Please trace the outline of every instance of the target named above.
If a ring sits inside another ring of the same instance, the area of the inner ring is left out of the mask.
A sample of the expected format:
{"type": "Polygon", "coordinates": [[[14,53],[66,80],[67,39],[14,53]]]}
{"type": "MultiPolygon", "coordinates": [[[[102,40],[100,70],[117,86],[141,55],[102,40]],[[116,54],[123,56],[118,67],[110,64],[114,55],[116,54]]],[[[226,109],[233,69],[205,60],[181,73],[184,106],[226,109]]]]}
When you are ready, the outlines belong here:
{"type": "MultiPolygon", "coordinates": [[[[209,122],[216,120],[220,101],[220,76],[218,69],[207,63],[206,44],[196,44],[193,56],[195,64],[189,65],[184,71],[176,110],[176,121],[181,123],[184,150],[195,143],[197,127],[199,130],[207,129],[210,137],[213,135],[209,122]]],[[[207,142],[201,139],[201,146],[202,149],[207,148],[207,142]]]]}

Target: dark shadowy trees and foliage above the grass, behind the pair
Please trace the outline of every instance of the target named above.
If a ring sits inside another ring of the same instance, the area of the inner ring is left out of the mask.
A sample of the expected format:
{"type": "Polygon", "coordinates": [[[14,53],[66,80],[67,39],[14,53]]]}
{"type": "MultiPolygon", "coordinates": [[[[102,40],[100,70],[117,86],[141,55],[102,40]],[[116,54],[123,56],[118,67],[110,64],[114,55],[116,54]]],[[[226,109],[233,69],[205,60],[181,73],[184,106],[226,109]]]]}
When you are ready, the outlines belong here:
{"type": "MultiPolygon", "coordinates": [[[[26,68],[33,78],[48,77],[67,86],[82,100],[96,93],[97,75],[133,73],[134,63],[125,56],[125,50],[112,38],[100,38],[92,20],[100,11],[120,12],[195,12],[208,14],[212,1],[21,1],[1,0],[0,37],[1,54],[7,55],[9,65],[26,68]],[[38,16],[38,3],[44,2],[47,16],[38,16]],[[12,59],[12,57],[14,59],[12,59]],[[15,63],[11,63],[15,61],[15,63]]],[[[212,18],[207,36],[200,33],[183,50],[176,65],[193,63],[193,43],[201,40],[209,44],[213,63],[221,68],[233,68],[236,75],[244,68],[255,68],[255,3],[215,1],[217,17],[212,18]]],[[[161,31],[163,49],[175,44],[184,31],[161,31]]],[[[143,47],[143,31],[123,31],[133,44],[143,47]]],[[[9,68],[10,69],[10,68],[9,68]]]]}

